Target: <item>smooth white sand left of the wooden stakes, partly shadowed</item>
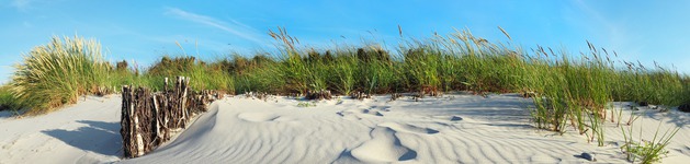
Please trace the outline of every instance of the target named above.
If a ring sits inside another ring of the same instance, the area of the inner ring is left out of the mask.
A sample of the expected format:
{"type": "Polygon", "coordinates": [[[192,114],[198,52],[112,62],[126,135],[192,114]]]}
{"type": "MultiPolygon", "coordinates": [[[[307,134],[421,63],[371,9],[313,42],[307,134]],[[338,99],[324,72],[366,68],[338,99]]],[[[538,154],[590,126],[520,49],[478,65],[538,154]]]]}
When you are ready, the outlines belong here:
{"type": "Polygon", "coordinates": [[[120,98],[87,97],[77,105],[16,119],[0,113],[0,163],[103,163],[123,154],[120,98]]]}

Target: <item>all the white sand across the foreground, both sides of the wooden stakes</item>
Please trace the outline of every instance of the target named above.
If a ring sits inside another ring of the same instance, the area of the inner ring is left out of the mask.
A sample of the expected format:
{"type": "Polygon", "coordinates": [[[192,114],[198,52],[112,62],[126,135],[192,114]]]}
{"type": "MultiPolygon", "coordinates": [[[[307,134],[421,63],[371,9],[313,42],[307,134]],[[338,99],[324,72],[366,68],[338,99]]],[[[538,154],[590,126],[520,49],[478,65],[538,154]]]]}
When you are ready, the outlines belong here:
{"type": "MultiPolygon", "coordinates": [[[[527,109],[531,99],[514,94],[421,102],[376,96],[321,101],[314,107],[298,107],[302,101],[286,97],[228,97],[213,103],[169,144],[120,161],[120,98],[100,101],[34,118],[0,117],[0,163],[584,163],[577,157],[582,152],[593,152],[600,163],[625,163],[615,124],[607,124],[604,147],[574,131],[536,130],[527,109]]],[[[636,113],[642,117],[635,130],[644,127],[647,140],[658,122],[663,130],[681,126],[663,162],[690,161],[690,115],[636,113]]]]}

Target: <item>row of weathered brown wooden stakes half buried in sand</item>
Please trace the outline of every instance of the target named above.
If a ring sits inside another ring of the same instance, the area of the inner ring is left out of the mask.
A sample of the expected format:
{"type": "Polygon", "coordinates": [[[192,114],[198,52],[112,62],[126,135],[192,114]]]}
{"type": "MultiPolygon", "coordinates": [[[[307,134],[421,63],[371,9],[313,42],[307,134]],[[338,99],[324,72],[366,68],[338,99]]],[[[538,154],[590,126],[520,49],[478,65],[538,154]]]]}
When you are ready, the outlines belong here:
{"type": "Polygon", "coordinates": [[[125,157],[142,156],[169,141],[174,132],[186,127],[193,115],[207,110],[207,105],[219,97],[215,91],[194,92],[190,79],[178,77],[173,87],[166,83],[163,91],[122,86],[120,133],[125,157]]]}

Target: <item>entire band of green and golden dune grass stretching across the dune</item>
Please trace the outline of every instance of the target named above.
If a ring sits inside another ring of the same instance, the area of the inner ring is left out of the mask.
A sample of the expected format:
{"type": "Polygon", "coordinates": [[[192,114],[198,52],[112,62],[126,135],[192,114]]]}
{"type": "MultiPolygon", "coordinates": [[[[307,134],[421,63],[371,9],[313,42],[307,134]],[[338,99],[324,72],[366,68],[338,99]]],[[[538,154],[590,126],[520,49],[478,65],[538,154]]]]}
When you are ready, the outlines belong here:
{"type": "Polygon", "coordinates": [[[619,60],[614,51],[590,43],[589,51],[575,56],[539,46],[528,51],[456,31],[405,40],[391,52],[377,44],[296,48],[298,40],[284,28],[270,35],[281,45],[275,54],[236,54],[210,61],[184,54],[165,56],[143,70],[128,67],[126,61],[116,67],[105,62],[100,45],[92,39],[55,37],[25,55],[10,90],[18,104],[26,104],[32,113],[75,103],[79,95],[113,92],[109,89],[116,91],[123,84],[160,90],[165,78],[177,75],[194,79],[195,90],[230,94],[285,95],[321,90],[342,95],[530,93],[535,127],[558,132],[573,128],[599,145],[604,143],[602,125],[608,115],[614,118],[609,102],[666,107],[690,104],[688,75],[661,66],[647,68],[619,60]]]}

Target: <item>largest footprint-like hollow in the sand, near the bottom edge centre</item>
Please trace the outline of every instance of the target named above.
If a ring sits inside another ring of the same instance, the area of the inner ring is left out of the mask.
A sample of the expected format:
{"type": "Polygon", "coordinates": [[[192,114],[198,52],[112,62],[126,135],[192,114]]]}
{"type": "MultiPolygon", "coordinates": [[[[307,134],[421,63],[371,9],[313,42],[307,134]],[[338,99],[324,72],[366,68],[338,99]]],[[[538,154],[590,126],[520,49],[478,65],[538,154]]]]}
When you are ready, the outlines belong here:
{"type": "Polygon", "coordinates": [[[387,163],[408,161],[417,157],[414,151],[400,143],[395,136],[396,130],[388,127],[376,127],[370,134],[372,140],[350,151],[350,155],[364,163],[387,163]]]}

